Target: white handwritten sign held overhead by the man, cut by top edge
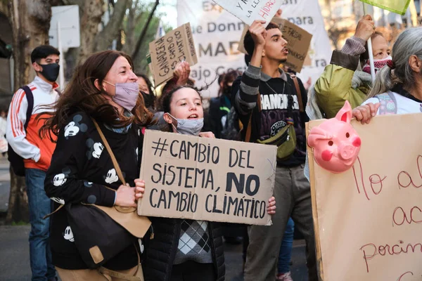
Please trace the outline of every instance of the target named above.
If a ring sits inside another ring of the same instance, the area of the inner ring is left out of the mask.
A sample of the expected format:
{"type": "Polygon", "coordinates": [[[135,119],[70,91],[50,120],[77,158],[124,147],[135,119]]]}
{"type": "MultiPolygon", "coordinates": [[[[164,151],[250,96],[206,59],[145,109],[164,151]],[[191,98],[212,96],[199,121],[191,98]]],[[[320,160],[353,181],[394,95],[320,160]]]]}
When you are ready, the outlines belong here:
{"type": "Polygon", "coordinates": [[[247,25],[252,25],[254,20],[265,20],[267,27],[269,20],[274,17],[276,12],[283,4],[284,0],[212,0],[219,4],[224,10],[236,16],[247,25]]]}

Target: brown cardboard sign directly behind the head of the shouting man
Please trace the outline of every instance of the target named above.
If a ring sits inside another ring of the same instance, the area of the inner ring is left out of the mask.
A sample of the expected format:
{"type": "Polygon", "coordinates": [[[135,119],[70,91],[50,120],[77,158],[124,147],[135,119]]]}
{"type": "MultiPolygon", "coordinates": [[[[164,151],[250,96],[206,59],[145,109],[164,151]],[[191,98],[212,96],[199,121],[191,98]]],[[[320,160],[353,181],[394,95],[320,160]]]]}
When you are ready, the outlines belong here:
{"type": "MultiPolygon", "coordinates": [[[[309,51],[309,46],[311,45],[312,34],[298,27],[298,25],[282,18],[274,17],[271,22],[279,25],[280,30],[283,33],[283,38],[287,41],[288,56],[286,63],[283,64],[287,65],[295,72],[300,72],[306,61],[308,61],[307,65],[309,65],[307,53],[309,51]]],[[[243,39],[245,38],[248,29],[249,26],[246,25],[243,29],[241,40],[239,41],[238,51],[241,51],[242,53],[248,53],[245,50],[245,46],[243,46],[243,39]]]]}

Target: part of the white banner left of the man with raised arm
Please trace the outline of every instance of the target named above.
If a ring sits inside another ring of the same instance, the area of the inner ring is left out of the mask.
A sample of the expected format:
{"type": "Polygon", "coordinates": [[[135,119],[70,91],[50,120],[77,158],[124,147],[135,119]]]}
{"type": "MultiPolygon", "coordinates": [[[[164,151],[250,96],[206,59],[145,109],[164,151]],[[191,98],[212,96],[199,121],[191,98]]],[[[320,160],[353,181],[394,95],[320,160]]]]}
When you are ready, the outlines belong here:
{"type": "MultiPolygon", "coordinates": [[[[198,64],[191,67],[197,86],[210,84],[217,74],[228,70],[245,71],[243,53],[237,51],[244,23],[213,1],[177,1],[177,25],[191,22],[198,64]]],[[[217,80],[203,91],[204,98],[217,96],[217,80]]]]}

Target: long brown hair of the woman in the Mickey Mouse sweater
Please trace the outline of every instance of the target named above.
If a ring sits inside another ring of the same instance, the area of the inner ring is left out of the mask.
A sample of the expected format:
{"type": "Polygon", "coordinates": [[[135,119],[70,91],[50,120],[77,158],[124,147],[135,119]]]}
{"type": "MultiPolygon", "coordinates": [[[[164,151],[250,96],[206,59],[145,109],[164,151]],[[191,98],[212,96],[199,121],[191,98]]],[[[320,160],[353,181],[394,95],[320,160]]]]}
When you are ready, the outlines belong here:
{"type": "Polygon", "coordinates": [[[58,136],[60,129],[63,129],[66,125],[70,115],[78,111],[84,111],[98,122],[118,128],[128,126],[132,122],[143,126],[151,123],[153,114],[146,109],[141,93],[139,93],[136,106],[132,110],[133,115],[125,117],[120,115],[117,109],[101,96],[102,93],[107,94],[106,91],[98,90],[94,84],[94,81],[98,79],[98,84],[102,85],[103,79],[120,56],[126,58],[132,68],[134,67],[132,58],[120,51],[94,53],[85,63],[77,67],[75,74],[73,74],[57,102],[47,106],[52,107],[53,112],[43,113],[50,117],[39,118],[41,115],[38,115],[39,119],[46,120],[39,130],[41,137],[49,136],[52,140],[51,133],[58,136]]]}

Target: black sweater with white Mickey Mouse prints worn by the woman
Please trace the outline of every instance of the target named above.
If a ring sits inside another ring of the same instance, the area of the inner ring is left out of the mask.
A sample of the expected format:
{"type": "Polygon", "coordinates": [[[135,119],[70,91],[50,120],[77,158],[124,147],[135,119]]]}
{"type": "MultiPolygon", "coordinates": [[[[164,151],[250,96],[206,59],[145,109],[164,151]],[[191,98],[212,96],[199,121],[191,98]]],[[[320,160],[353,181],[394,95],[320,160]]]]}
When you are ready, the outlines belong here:
{"type": "MultiPolygon", "coordinates": [[[[94,123],[86,113],[77,112],[66,124],[60,130],[51,166],[46,174],[46,194],[56,202],[55,209],[59,204],[79,202],[113,206],[114,190],[122,183],[94,123]]],[[[142,155],[143,135],[139,127],[132,124],[127,133],[117,133],[106,129],[101,123],[99,125],[120,164],[125,180],[134,186],[135,178],[139,178],[142,155]]],[[[65,209],[60,209],[51,219],[53,264],[65,269],[87,268],[75,247],[75,237],[65,212],[65,209]]],[[[124,270],[136,266],[137,259],[134,246],[130,246],[104,266],[112,270],[124,270]]]]}

